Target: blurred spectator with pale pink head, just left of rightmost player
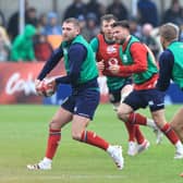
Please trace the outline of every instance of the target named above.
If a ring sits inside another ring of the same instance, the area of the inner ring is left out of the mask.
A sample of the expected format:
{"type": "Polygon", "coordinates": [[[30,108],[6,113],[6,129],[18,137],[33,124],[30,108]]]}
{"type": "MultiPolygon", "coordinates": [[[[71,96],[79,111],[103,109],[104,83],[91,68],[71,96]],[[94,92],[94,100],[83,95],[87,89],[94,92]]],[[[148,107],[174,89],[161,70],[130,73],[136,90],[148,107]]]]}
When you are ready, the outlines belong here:
{"type": "Polygon", "coordinates": [[[159,45],[157,44],[155,37],[152,37],[151,32],[152,32],[154,27],[151,24],[144,24],[143,25],[143,29],[142,29],[142,38],[141,40],[146,44],[150,50],[152,51],[155,58],[158,58],[158,53],[160,51],[159,45]]]}

